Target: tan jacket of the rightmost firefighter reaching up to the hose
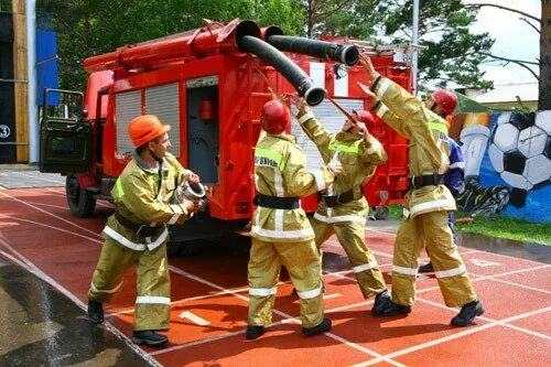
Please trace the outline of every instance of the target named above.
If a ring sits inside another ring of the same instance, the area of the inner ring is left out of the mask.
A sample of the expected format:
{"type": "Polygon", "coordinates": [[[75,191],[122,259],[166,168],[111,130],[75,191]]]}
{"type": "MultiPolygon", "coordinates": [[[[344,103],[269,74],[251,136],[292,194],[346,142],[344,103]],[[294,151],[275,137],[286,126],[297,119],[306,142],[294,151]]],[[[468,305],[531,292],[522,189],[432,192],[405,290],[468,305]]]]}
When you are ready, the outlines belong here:
{"type": "MultiPolygon", "coordinates": [[[[446,173],[450,166],[447,122],[388,78],[381,76],[371,88],[380,98],[374,100],[371,109],[393,130],[410,140],[410,175],[446,173]]],[[[414,217],[423,213],[455,208],[455,199],[444,184],[428,185],[409,192],[404,216],[414,217]]]]}

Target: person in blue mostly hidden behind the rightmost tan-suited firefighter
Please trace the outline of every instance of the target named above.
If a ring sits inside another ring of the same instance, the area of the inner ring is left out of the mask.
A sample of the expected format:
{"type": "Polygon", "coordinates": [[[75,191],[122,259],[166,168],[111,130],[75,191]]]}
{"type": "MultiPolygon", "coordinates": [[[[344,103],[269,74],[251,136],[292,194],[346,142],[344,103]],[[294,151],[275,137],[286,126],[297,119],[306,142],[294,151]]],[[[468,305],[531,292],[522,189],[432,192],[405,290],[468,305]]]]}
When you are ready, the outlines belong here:
{"type": "MultiPolygon", "coordinates": [[[[444,174],[444,185],[450,190],[452,193],[452,196],[457,199],[457,196],[460,195],[463,190],[465,190],[465,161],[463,160],[463,153],[460,149],[460,145],[453,140],[452,138],[450,139],[450,170],[444,174]]],[[[455,229],[454,229],[454,223],[455,223],[455,215],[454,212],[449,212],[447,213],[447,225],[450,226],[450,229],[452,229],[453,234],[453,241],[455,241],[455,229]]],[[[434,271],[434,268],[432,266],[432,262],[429,261],[428,263],[419,267],[420,272],[432,272],[434,271]]]]}

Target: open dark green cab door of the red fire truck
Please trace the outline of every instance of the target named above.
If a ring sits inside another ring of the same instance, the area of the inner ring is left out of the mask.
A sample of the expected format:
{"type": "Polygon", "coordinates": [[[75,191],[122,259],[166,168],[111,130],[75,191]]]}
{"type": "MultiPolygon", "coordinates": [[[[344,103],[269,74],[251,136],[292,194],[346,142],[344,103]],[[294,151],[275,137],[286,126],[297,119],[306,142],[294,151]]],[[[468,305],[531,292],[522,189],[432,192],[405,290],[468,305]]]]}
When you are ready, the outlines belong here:
{"type": "Polygon", "coordinates": [[[84,121],[83,94],[46,88],[41,115],[40,171],[87,172],[91,128],[84,121]]]}

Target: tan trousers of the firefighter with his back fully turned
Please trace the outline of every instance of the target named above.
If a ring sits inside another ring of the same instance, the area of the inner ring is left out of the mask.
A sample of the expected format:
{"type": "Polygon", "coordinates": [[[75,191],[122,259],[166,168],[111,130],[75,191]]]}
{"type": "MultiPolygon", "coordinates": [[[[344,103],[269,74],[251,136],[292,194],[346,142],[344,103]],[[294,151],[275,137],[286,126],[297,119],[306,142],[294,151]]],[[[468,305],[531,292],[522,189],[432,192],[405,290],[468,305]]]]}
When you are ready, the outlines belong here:
{"type": "Polygon", "coordinates": [[[267,242],[252,238],[249,260],[249,325],[272,321],[273,302],[281,266],[284,265],[300,298],[303,327],[323,321],[320,255],[314,240],[267,242]]]}

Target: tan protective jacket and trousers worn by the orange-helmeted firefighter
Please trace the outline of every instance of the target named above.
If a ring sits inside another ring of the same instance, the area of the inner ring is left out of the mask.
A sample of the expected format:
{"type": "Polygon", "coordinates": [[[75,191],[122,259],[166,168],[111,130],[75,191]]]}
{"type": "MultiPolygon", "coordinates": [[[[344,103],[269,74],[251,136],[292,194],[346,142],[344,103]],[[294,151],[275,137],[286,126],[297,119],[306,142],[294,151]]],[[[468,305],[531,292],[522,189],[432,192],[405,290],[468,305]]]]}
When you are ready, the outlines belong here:
{"type": "Polygon", "coordinates": [[[171,291],[165,224],[182,224],[190,213],[183,205],[168,203],[191,173],[171,154],[163,158],[159,170],[150,169],[134,151],[111,191],[117,212],[104,228],[106,241],[88,299],[111,301],[122,285],[125,272],[136,266],[134,331],[169,328],[171,291]]]}

